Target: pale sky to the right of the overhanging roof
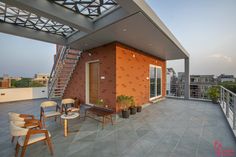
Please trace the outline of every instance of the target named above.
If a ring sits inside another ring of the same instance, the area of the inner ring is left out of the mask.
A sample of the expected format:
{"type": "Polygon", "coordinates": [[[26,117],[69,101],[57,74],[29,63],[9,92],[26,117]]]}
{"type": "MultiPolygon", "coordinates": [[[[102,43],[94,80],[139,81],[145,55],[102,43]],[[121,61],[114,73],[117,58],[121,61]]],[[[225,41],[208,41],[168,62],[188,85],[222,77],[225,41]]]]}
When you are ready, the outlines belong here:
{"type": "Polygon", "coordinates": [[[146,1],[190,54],[190,74],[236,75],[236,0],[146,1]]]}

